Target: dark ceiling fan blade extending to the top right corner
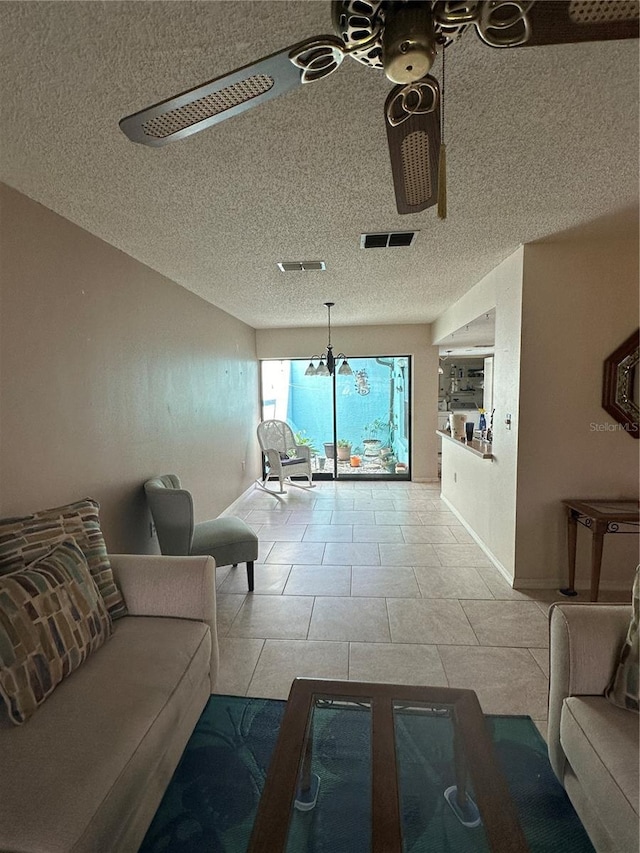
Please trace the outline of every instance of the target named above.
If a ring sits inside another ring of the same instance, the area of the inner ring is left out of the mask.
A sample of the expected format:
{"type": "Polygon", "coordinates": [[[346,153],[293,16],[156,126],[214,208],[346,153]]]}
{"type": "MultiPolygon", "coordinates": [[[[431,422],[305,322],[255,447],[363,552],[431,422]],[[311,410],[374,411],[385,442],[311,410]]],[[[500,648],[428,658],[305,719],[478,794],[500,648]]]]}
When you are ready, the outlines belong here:
{"type": "Polygon", "coordinates": [[[490,47],[638,38],[638,0],[497,0],[478,3],[471,21],[490,47]]]}

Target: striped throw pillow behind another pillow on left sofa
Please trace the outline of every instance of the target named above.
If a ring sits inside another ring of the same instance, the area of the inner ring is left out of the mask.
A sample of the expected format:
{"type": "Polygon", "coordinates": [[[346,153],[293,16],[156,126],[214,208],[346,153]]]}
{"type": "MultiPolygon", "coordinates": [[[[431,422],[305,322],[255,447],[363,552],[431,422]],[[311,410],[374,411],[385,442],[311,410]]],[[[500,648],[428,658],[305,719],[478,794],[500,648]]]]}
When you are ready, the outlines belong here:
{"type": "Polygon", "coordinates": [[[100,504],[91,498],[44,509],[24,518],[0,519],[0,575],[24,569],[72,536],[87,559],[89,571],[112,619],[127,609],[107,556],[100,529],[100,504]]]}

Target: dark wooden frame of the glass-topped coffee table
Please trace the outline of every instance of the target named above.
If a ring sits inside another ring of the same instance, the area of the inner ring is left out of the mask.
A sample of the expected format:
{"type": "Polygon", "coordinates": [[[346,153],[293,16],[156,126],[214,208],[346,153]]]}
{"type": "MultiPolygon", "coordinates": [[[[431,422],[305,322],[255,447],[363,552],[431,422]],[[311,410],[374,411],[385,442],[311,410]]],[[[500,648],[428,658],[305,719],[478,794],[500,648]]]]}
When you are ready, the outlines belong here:
{"type": "Polygon", "coordinates": [[[478,697],[472,690],[358,681],[296,678],[260,799],[248,853],[284,853],[301,767],[309,761],[308,741],[317,699],[352,699],[371,705],[371,850],[402,853],[394,702],[448,706],[454,725],[456,775],[464,789],[474,786],[489,848],[495,853],[529,850],[478,697]],[[456,743],[457,741],[457,743],[456,743]],[[464,757],[464,760],[463,760],[464,757]]]}

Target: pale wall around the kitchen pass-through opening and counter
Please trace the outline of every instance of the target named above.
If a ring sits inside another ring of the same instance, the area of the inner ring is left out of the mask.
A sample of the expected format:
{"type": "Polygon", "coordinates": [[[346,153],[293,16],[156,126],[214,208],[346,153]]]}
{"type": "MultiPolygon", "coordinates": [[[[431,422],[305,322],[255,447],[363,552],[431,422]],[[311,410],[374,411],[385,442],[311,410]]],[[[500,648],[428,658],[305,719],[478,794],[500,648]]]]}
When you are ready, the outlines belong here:
{"type": "Polygon", "coordinates": [[[476,535],[507,578],[516,573],[516,472],[522,327],[520,248],[485,276],[434,324],[434,341],[496,309],[492,461],[442,442],[442,496],[476,535]],[[505,417],[512,416],[512,428],[505,417]]]}

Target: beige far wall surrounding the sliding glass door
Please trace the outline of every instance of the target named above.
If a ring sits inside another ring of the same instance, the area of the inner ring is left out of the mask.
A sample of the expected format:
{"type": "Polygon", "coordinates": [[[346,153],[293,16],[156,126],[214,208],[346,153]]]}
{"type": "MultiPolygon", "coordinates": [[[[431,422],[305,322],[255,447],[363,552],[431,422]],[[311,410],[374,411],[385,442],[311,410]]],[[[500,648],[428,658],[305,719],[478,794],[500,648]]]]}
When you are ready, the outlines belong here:
{"type": "MultiPolygon", "coordinates": [[[[334,313],[335,317],[335,313],[334,313]]],[[[429,326],[337,326],[334,350],[349,356],[410,355],[413,363],[411,475],[416,481],[438,476],[435,429],[438,408],[438,352],[429,326]]],[[[258,329],[258,358],[309,358],[322,352],[327,329],[258,329]]]]}

